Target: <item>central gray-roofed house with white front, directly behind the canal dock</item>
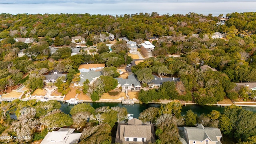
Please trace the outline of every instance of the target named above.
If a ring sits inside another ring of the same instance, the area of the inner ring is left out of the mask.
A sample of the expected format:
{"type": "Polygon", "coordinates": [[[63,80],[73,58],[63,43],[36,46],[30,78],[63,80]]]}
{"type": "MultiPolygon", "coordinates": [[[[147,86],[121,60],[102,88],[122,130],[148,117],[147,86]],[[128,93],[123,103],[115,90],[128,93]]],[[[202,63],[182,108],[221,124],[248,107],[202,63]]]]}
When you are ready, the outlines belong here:
{"type": "Polygon", "coordinates": [[[127,79],[115,78],[118,81],[117,88],[122,87],[122,92],[128,91],[140,91],[140,82],[135,78],[133,74],[130,74],[127,79]]]}

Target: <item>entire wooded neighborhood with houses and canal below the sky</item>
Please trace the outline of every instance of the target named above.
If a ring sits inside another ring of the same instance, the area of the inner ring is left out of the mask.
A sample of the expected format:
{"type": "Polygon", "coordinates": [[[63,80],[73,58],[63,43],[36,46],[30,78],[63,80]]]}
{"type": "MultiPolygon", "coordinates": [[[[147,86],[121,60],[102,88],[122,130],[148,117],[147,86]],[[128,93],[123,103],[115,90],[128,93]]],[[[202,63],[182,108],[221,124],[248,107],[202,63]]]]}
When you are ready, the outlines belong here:
{"type": "Polygon", "coordinates": [[[255,22],[2,13],[0,143],[256,143],[255,22]]]}

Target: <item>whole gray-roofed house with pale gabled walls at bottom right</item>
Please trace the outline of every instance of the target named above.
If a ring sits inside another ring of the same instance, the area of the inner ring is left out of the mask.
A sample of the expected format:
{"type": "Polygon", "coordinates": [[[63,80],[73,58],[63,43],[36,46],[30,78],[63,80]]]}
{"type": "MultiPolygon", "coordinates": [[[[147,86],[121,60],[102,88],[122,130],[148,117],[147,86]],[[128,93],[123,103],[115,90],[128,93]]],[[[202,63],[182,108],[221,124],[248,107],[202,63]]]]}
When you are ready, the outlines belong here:
{"type": "Polygon", "coordinates": [[[220,129],[205,128],[202,124],[197,127],[184,126],[179,128],[179,134],[182,144],[221,144],[220,129]]]}

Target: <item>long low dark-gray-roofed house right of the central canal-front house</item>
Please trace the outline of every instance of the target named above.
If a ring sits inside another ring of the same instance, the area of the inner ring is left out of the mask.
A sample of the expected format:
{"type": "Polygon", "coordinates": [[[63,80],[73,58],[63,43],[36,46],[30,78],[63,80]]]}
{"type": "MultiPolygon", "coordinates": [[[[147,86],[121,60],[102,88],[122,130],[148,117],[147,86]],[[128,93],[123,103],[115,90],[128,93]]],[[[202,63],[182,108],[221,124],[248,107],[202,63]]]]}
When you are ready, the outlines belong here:
{"type": "Polygon", "coordinates": [[[149,83],[148,83],[148,86],[150,87],[155,87],[155,86],[161,86],[163,84],[163,82],[178,82],[180,81],[180,78],[158,78],[156,75],[153,75],[154,76],[154,79],[151,80],[149,83]]]}

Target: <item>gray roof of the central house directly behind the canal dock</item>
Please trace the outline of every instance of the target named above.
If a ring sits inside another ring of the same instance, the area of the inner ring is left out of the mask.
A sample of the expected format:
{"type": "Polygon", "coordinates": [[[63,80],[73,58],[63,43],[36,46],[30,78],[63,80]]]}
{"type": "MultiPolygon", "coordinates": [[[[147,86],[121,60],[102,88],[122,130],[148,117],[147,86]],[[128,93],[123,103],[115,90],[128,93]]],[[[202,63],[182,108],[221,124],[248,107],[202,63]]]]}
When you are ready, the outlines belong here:
{"type": "Polygon", "coordinates": [[[134,84],[134,87],[140,87],[140,82],[135,78],[133,74],[130,74],[127,79],[123,78],[115,78],[118,81],[118,84],[121,84],[122,86],[131,86],[134,84]]]}

